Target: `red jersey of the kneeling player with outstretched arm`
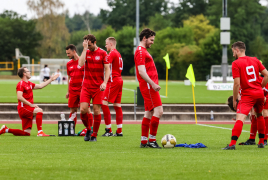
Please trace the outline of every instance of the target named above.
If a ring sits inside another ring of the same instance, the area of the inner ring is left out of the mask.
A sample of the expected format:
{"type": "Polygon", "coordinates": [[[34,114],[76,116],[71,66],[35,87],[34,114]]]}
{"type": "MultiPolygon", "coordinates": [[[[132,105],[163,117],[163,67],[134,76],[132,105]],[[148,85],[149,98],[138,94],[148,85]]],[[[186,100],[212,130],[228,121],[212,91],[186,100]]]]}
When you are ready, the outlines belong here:
{"type": "MultiPolygon", "coordinates": [[[[22,91],[22,97],[24,97],[27,101],[33,104],[33,88],[35,87],[35,84],[28,81],[25,82],[21,80],[16,87],[16,92],[22,91]]],[[[21,107],[30,107],[20,100],[18,100],[18,109],[21,107]]]]}

